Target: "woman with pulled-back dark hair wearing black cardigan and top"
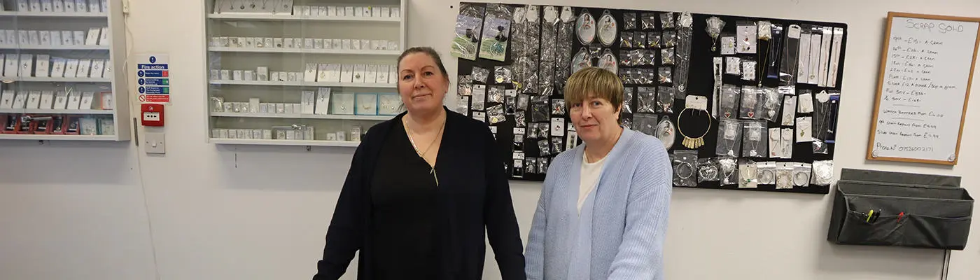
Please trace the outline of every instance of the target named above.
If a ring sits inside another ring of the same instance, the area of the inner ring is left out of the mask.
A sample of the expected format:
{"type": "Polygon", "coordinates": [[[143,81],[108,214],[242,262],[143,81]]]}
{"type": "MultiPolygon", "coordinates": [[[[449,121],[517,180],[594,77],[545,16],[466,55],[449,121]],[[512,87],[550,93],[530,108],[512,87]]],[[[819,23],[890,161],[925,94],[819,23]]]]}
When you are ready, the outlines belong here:
{"type": "Polygon", "coordinates": [[[480,279],[486,232],[503,278],[524,280],[490,129],[443,106],[449,76],[431,48],[406,50],[398,74],[408,111],[368,129],[354,153],[314,279],[340,278],[357,251],[358,279],[480,279]]]}

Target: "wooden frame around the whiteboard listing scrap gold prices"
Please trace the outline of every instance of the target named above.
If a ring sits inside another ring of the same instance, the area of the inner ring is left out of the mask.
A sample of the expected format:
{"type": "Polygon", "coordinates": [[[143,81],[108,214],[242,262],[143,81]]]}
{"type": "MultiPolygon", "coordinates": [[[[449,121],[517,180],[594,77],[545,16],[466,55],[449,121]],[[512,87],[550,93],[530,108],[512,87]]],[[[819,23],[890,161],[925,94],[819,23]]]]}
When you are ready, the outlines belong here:
{"type": "Polygon", "coordinates": [[[933,161],[933,160],[908,159],[908,158],[896,158],[896,157],[874,157],[872,155],[874,152],[874,137],[875,137],[875,131],[877,131],[878,128],[878,111],[880,110],[881,92],[884,88],[883,86],[885,82],[885,68],[888,66],[888,48],[892,38],[892,22],[895,21],[895,17],[921,19],[921,20],[980,23],[980,18],[888,12],[888,20],[886,21],[887,25],[885,26],[885,38],[884,38],[885,42],[881,47],[881,69],[878,72],[878,88],[874,99],[874,111],[872,112],[874,116],[871,117],[871,130],[869,133],[870,137],[868,138],[867,141],[867,156],[865,156],[865,159],[869,161],[935,163],[935,164],[943,164],[943,165],[956,165],[956,163],[959,162],[959,144],[962,142],[962,137],[963,137],[963,123],[966,121],[966,108],[970,100],[970,85],[973,83],[973,70],[976,68],[977,50],[980,49],[980,29],[977,29],[976,42],[973,43],[973,60],[970,62],[970,74],[969,77],[967,77],[966,79],[966,95],[963,96],[963,111],[959,113],[959,132],[956,135],[956,154],[955,154],[956,158],[954,158],[954,160],[950,162],[950,161],[933,161]]]}

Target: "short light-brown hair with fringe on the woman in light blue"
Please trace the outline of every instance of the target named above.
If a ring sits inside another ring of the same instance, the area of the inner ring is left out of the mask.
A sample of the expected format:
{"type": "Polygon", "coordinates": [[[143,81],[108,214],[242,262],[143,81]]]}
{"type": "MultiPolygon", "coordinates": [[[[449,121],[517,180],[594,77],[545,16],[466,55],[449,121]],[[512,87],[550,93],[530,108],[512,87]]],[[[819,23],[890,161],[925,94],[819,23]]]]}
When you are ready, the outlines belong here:
{"type": "Polygon", "coordinates": [[[579,104],[586,98],[608,100],[616,110],[622,107],[622,80],[610,70],[597,67],[584,68],[572,73],[564,84],[564,101],[568,105],[579,104]]]}

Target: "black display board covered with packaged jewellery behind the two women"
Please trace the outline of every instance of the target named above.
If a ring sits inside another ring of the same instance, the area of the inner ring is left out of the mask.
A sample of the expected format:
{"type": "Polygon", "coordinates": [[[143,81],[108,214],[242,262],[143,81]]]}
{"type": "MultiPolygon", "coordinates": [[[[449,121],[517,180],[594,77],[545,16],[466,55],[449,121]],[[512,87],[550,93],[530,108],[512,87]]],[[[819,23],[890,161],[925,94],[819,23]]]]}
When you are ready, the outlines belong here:
{"type": "Polygon", "coordinates": [[[563,87],[593,66],[619,75],[623,124],[661,139],[674,186],[829,192],[845,23],[462,3],[455,30],[457,110],[491,125],[514,179],[581,143],[563,87]]]}

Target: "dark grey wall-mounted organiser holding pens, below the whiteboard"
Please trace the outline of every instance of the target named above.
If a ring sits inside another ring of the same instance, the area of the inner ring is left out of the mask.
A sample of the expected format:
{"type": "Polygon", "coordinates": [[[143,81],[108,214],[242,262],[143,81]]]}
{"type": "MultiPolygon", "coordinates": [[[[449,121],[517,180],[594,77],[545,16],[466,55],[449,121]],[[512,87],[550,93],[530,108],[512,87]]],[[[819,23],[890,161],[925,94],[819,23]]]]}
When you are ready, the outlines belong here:
{"type": "Polygon", "coordinates": [[[973,198],[957,176],[844,168],[827,240],[961,251],[972,218],[973,198]]]}

